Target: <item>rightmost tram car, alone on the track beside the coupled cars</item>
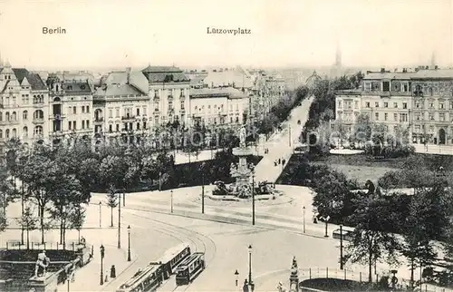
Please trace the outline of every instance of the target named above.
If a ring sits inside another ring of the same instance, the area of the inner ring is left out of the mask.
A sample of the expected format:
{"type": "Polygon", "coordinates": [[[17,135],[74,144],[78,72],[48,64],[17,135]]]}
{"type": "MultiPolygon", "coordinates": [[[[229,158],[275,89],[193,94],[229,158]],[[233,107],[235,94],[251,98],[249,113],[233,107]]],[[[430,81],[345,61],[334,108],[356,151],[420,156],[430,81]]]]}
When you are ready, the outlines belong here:
{"type": "Polygon", "coordinates": [[[205,253],[194,252],[176,270],[176,285],[188,285],[205,269],[205,253]]]}

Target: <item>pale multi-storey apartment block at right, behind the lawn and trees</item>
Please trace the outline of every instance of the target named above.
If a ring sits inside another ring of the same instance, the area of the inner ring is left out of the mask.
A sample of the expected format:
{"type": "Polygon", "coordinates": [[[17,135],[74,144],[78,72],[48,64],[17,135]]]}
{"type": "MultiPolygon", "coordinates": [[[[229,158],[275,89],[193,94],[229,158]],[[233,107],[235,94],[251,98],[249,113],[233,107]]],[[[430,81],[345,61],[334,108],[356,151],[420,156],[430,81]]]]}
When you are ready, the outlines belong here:
{"type": "Polygon", "coordinates": [[[336,92],[335,118],[353,131],[359,114],[388,131],[410,132],[414,143],[453,143],[453,70],[368,72],[358,91],[336,92]]]}

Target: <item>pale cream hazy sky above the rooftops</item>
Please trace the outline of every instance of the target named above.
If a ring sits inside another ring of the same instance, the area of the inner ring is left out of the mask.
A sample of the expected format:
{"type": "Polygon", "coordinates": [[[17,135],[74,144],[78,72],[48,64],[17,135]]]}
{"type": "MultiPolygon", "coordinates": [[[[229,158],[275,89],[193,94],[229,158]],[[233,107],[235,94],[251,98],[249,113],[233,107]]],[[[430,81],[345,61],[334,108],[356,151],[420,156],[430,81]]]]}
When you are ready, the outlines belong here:
{"type": "Polygon", "coordinates": [[[0,0],[14,67],[453,63],[453,0],[0,0]],[[43,34],[43,26],[66,34],[43,34]],[[207,34],[207,27],[251,34],[207,34]]]}

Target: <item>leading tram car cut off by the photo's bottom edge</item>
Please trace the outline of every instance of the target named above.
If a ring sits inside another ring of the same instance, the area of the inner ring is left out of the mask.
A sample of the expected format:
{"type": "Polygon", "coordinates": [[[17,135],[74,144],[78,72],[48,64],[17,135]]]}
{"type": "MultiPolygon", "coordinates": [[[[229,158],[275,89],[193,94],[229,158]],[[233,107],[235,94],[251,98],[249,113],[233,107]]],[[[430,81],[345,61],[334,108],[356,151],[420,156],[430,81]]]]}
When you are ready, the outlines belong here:
{"type": "Polygon", "coordinates": [[[117,292],[154,292],[162,284],[162,269],[160,265],[149,265],[143,271],[137,272],[129,281],[122,284],[117,292]]]}

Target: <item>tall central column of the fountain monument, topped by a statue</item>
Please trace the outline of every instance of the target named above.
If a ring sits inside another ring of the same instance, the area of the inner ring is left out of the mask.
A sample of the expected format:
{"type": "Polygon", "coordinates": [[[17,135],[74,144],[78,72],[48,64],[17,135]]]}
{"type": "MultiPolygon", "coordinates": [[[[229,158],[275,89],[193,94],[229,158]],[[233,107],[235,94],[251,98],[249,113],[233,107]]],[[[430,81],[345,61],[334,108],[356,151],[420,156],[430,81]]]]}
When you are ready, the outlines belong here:
{"type": "Polygon", "coordinates": [[[239,158],[239,162],[230,166],[231,177],[236,180],[232,187],[237,197],[249,198],[252,196],[253,167],[247,164],[247,156],[253,154],[253,151],[246,146],[246,128],[242,127],[238,131],[239,147],[233,149],[233,154],[239,158]]]}

